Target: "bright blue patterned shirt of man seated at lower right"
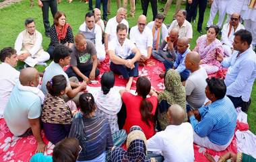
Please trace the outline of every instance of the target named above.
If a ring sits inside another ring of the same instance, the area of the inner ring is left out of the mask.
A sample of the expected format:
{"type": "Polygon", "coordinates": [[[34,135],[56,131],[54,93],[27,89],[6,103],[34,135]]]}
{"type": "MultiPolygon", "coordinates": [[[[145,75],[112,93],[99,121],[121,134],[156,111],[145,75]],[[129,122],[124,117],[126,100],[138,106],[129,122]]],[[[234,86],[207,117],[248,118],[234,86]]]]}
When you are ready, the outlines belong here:
{"type": "Polygon", "coordinates": [[[199,108],[201,121],[191,116],[190,123],[195,132],[201,136],[207,136],[216,145],[226,145],[234,136],[236,127],[236,110],[228,97],[218,99],[209,106],[199,108]]]}

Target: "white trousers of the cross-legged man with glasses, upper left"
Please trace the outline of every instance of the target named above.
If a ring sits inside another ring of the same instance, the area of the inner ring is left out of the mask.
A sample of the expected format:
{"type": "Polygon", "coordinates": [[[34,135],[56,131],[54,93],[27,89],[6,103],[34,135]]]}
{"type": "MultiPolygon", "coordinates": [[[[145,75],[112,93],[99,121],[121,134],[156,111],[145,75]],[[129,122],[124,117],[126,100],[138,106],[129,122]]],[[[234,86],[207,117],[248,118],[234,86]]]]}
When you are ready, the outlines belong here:
{"type": "MultiPolygon", "coordinates": [[[[26,53],[28,51],[22,50],[20,54],[26,53]]],[[[44,63],[46,60],[50,59],[50,54],[44,50],[39,50],[34,56],[28,56],[24,62],[30,67],[34,67],[37,63],[44,63]]]]}

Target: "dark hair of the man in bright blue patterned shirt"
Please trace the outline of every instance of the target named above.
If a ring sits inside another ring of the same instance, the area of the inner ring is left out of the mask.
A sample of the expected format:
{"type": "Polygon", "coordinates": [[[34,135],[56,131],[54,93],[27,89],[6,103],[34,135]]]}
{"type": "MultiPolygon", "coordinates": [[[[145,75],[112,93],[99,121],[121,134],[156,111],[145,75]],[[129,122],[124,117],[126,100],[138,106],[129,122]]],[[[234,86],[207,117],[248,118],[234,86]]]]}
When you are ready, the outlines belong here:
{"type": "Polygon", "coordinates": [[[222,99],[226,95],[226,85],[223,79],[212,77],[206,79],[211,93],[214,93],[216,99],[222,99]]]}

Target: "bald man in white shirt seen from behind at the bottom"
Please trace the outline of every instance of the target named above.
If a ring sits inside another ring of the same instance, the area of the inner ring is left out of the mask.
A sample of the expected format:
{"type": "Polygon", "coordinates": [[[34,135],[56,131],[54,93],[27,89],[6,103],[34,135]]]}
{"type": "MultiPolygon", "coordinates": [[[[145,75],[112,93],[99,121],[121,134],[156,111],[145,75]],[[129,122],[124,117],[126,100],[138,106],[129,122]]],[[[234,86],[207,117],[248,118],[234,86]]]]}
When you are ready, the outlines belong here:
{"type": "Polygon", "coordinates": [[[147,141],[148,152],[161,152],[165,161],[193,162],[193,128],[191,124],[184,122],[185,116],[185,110],[181,106],[170,106],[167,112],[170,125],[147,141]]]}

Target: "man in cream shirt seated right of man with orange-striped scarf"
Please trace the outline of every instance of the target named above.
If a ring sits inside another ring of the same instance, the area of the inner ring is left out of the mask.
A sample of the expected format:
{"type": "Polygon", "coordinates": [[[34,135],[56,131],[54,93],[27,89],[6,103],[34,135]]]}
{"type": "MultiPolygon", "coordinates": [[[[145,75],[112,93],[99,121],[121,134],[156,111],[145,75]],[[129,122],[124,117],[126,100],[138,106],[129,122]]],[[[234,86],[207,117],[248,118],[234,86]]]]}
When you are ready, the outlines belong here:
{"type": "Polygon", "coordinates": [[[179,38],[187,37],[189,40],[193,38],[193,29],[190,22],[187,21],[187,11],[186,10],[179,10],[176,15],[176,19],[170,24],[168,28],[168,32],[173,28],[179,29],[179,38]]]}

